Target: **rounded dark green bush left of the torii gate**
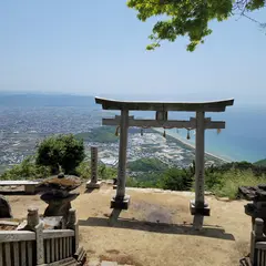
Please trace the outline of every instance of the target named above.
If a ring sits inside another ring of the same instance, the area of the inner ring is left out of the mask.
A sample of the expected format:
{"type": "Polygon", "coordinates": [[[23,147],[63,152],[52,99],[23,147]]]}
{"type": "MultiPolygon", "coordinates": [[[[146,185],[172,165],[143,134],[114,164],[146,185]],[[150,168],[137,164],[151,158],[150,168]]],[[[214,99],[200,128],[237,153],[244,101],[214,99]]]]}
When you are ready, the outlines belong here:
{"type": "Polygon", "coordinates": [[[84,160],[82,140],[72,134],[50,136],[41,142],[37,151],[37,164],[50,166],[53,173],[63,167],[65,174],[75,173],[75,167],[84,160]]]}

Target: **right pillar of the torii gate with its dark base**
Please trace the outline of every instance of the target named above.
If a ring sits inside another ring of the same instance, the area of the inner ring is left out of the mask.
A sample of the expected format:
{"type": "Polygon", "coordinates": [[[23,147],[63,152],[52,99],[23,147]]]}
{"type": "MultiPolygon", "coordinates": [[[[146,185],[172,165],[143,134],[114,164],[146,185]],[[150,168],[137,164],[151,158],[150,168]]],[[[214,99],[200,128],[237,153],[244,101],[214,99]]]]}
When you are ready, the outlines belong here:
{"type": "Polygon", "coordinates": [[[209,216],[208,204],[204,201],[205,167],[205,113],[196,112],[196,156],[195,156],[195,201],[191,201],[191,213],[194,215],[193,226],[202,228],[204,216],[209,216]]]}

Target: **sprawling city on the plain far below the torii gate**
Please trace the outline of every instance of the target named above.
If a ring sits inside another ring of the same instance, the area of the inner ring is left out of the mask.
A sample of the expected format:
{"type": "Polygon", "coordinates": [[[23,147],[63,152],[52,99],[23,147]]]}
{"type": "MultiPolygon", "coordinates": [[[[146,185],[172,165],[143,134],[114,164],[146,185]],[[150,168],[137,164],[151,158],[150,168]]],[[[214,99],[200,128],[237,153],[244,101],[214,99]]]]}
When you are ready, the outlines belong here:
{"type": "MultiPolygon", "coordinates": [[[[106,130],[101,126],[102,117],[110,116],[110,113],[103,112],[96,105],[0,106],[0,172],[21,163],[28,155],[33,155],[38,143],[44,137],[60,133],[72,133],[81,139],[82,135],[91,135],[84,137],[88,157],[90,157],[90,146],[96,145],[101,163],[109,166],[117,164],[116,129],[113,126],[106,130]]],[[[194,156],[193,147],[167,135],[167,132],[164,137],[161,132],[152,129],[143,131],[130,129],[129,162],[155,157],[170,166],[188,167],[194,156]]],[[[206,154],[206,165],[221,163],[222,160],[206,154]]]]}

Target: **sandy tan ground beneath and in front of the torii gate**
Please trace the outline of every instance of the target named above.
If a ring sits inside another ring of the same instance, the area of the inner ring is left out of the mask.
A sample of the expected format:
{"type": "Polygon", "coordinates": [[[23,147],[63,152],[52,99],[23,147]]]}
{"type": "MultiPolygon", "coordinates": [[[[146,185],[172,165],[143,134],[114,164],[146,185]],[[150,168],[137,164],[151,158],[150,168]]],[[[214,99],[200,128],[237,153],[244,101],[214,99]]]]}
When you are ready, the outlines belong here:
{"type": "MultiPolygon", "coordinates": [[[[86,193],[84,185],[78,190],[81,195],[73,207],[91,266],[233,266],[248,254],[252,224],[244,214],[245,201],[207,196],[211,217],[205,218],[202,232],[195,232],[191,227],[190,192],[127,188],[130,209],[111,225],[112,186],[105,184],[86,193]]],[[[16,218],[24,217],[30,206],[38,206],[40,213],[47,206],[39,195],[7,197],[16,218]]]]}

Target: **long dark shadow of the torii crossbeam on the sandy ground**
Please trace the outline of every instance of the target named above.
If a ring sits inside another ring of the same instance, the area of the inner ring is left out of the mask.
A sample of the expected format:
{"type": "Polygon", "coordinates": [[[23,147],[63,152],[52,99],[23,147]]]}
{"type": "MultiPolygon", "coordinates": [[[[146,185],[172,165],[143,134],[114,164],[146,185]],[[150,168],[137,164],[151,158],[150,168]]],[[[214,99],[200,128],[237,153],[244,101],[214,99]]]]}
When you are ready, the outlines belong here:
{"type": "Polygon", "coordinates": [[[80,219],[80,226],[102,226],[116,227],[136,231],[147,231],[163,234],[180,234],[180,235],[197,235],[203,237],[221,238],[226,241],[235,241],[232,234],[225,233],[222,227],[205,225],[201,231],[193,228],[192,225],[178,225],[166,223],[153,223],[137,219],[119,218],[119,213],[112,213],[110,218],[104,217],[89,217],[88,219],[80,219]]]}

